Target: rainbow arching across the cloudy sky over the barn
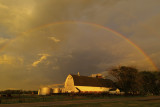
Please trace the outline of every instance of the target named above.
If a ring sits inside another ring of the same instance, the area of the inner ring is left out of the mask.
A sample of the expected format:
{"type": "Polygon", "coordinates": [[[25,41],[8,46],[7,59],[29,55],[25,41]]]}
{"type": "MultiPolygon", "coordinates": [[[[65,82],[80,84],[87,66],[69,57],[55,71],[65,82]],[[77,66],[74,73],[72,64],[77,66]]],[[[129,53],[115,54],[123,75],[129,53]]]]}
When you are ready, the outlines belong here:
{"type": "MultiPolygon", "coordinates": [[[[61,22],[53,22],[53,23],[49,23],[49,24],[46,24],[46,25],[42,25],[42,26],[38,26],[36,28],[33,28],[31,30],[28,30],[27,32],[24,32],[24,33],[30,33],[30,32],[34,32],[36,30],[40,30],[42,28],[45,28],[45,27],[49,27],[51,25],[60,25],[60,24],[82,24],[82,25],[90,25],[90,26],[95,26],[97,28],[100,28],[100,29],[104,29],[106,31],[109,31],[113,34],[115,34],[116,36],[119,36],[120,38],[124,39],[127,43],[129,43],[131,46],[133,46],[136,50],[138,50],[143,56],[145,56],[145,58],[147,58],[147,61],[153,66],[153,68],[158,71],[158,67],[156,66],[156,64],[154,64],[154,62],[152,61],[152,59],[140,48],[138,47],[135,43],[133,43],[131,40],[129,40],[128,38],[126,38],[124,35],[114,31],[113,29],[110,29],[108,27],[105,27],[105,26],[102,26],[102,25],[99,25],[99,24],[95,24],[95,23],[89,23],[89,22],[81,22],[81,21],[61,21],[61,22]]],[[[6,46],[4,46],[6,47],[6,46]]],[[[3,47],[3,48],[4,48],[3,47]]]]}

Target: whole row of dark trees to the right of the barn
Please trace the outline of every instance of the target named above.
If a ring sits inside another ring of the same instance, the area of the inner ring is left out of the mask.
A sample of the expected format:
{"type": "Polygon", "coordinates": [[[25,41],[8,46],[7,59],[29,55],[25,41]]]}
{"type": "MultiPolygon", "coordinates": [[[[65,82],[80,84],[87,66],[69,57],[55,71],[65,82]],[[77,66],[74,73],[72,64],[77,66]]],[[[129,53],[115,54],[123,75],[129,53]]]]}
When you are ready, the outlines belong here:
{"type": "Polygon", "coordinates": [[[160,72],[139,71],[134,67],[119,66],[109,71],[115,88],[125,94],[160,95],[160,72]]]}

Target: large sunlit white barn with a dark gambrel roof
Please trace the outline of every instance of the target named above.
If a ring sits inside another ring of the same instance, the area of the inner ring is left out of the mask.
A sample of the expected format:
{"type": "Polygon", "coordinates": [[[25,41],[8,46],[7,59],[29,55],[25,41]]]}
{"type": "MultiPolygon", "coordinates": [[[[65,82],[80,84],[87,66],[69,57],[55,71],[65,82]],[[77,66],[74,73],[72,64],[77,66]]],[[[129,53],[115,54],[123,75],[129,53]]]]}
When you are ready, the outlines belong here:
{"type": "Polygon", "coordinates": [[[113,82],[103,79],[101,76],[88,77],[69,74],[65,81],[65,92],[68,93],[102,93],[109,92],[113,87],[113,82]]]}

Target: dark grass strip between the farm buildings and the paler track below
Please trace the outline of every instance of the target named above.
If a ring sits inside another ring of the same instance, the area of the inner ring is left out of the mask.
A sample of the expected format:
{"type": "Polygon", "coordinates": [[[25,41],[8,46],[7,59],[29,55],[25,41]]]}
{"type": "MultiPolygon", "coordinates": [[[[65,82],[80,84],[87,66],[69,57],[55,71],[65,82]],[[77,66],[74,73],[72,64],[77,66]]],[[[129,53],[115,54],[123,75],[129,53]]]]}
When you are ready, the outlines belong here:
{"type": "Polygon", "coordinates": [[[72,100],[89,100],[89,99],[112,99],[121,98],[123,96],[102,96],[102,95],[87,95],[87,96],[71,96],[71,95],[12,95],[11,97],[0,97],[1,104],[14,103],[34,103],[34,102],[55,102],[55,101],[72,101],[72,100]]]}

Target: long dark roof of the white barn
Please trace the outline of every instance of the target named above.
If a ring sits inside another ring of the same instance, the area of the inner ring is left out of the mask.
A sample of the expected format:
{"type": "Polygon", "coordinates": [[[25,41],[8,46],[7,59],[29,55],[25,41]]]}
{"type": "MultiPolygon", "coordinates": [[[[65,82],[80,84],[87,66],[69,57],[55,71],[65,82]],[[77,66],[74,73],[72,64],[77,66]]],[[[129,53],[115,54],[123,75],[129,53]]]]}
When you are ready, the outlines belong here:
{"type": "Polygon", "coordinates": [[[113,87],[113,82],[109,79],[96,77],[71,75],[75,86],[93,86],[93,87],[113,87]]]}

